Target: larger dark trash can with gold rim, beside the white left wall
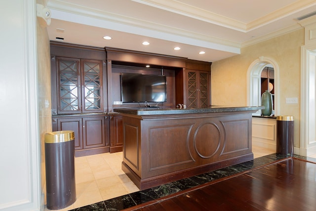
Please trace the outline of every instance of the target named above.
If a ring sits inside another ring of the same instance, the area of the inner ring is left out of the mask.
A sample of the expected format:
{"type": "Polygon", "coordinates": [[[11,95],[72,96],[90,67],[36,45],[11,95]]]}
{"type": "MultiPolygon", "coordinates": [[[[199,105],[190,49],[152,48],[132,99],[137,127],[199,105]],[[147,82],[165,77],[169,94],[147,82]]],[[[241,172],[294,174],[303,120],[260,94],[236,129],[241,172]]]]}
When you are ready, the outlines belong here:
{"type": "Polygon", "coordinates": [[[75,132],[45,134],[46,206],[60,210],[76,201],[75,132]]]}

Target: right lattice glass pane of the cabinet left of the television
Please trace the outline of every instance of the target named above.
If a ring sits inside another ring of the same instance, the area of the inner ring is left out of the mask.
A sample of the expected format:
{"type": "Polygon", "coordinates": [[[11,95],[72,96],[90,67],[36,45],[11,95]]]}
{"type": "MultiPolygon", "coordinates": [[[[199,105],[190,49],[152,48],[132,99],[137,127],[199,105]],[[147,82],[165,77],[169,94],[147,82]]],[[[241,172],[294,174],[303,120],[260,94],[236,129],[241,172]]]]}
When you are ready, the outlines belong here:
{"type": "Polygon", "coordinates": [[[101,109],[100,63],[84,62],[84,109],[101,109]]]}

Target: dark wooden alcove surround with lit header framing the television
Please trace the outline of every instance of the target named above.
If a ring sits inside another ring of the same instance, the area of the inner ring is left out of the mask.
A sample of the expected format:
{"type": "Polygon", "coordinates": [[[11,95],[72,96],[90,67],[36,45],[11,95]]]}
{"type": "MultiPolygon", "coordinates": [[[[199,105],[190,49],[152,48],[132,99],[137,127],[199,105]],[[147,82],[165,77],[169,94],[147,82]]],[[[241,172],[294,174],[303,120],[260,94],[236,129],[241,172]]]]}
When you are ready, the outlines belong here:
{"type": "MultiPolygon", "coordinates": [[[[106,47],[106,52],[109,112],[112,112],[114,108],[144,106],[143,103],[115,103],[121,101],[121,73],[165,75],[167,79],[167,99],[166,102],[160,103],[159,107],[175,108],[175,98],[177,95],[177,93],[175,93],[175,73],[183,71],[186,61],[185,58],[112,47],[106,47]],[[150,67],[146,67],[146,65],[150,65],[150,67]]],[[[183,90],[184,87],[182,87],[182,91],[183,90]]]]}

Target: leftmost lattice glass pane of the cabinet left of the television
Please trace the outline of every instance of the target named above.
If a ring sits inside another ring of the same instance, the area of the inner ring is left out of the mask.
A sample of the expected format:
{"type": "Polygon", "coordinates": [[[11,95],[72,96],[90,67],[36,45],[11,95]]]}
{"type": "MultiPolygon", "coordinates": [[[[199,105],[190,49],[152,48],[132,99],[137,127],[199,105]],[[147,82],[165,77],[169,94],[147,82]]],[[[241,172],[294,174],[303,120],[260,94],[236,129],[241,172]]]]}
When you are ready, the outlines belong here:
{"type": "Polygon", "coordinates": [[[59,60],[60,111],[78,111],[77,61],[59,60]]]}

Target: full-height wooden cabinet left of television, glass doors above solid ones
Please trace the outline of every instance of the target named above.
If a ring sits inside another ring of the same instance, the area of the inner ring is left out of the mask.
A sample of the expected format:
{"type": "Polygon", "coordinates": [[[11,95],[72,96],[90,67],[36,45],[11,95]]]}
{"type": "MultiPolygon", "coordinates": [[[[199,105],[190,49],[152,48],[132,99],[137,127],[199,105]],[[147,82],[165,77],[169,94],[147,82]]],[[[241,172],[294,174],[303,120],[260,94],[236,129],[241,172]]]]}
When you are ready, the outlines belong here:
{"type": "Polygon", "coordinates": [[[104,48],[51,42],[52,128],[75,131],[75,155],[109,152],[104,48]]]}

